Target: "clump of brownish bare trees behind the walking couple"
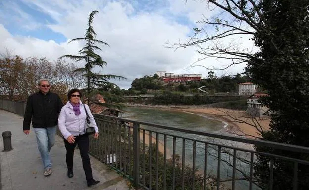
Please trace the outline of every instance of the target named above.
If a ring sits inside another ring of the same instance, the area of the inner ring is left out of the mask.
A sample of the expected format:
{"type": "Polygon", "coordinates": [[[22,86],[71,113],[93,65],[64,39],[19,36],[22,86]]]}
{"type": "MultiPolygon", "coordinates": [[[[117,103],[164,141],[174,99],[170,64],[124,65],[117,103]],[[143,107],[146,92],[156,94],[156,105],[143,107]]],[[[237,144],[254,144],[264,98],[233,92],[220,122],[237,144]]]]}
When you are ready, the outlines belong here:
{"type": "Polygon", "coordinates": [[[46,58],[13,55],[10,51],[0,57],[0,94],[9,98],[25,100],[38,91],[37,81],[48,79],[53,88],[64,99],[71,88],[83,88],[86,81],[81,72],[73,72],[76,66],[58,60],[56,64],[46,58]]]}

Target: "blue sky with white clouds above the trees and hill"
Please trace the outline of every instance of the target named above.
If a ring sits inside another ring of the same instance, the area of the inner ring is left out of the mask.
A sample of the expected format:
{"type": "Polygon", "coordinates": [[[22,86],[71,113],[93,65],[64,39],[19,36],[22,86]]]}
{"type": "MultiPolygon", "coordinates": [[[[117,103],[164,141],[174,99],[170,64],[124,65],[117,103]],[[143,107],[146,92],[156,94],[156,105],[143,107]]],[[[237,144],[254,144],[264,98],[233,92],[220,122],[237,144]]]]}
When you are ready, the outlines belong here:
{"type": "MultiPolygon", "coordinates": [[[[192,29],[201,26],[197,21],[218,13],[205,0],[1,0],[0,53],[9,50],[23,58],[46,57],[51,62],[65,54],[76,55],[84,44],[68,42],[84,37],[93,10],[99,11],[93,24],[96,38],[109,44],[99,45],[102,51],[97,53],[107,66],[96,71],[127,78],[112,81],[120,88],[128,89],[135,78],[156,71],[208,76],[204,67],[189,67],[201,58],[197,47],[166,47],[187,42],[192,29]]],[[[240,44],[253,46],[247,38],[240,44]]],[[[227,64],[213,58],[198,63],[206,67],[227,64]]],[[[244,67],[216,70],[215,74],[235,75],[244,67]]]]}

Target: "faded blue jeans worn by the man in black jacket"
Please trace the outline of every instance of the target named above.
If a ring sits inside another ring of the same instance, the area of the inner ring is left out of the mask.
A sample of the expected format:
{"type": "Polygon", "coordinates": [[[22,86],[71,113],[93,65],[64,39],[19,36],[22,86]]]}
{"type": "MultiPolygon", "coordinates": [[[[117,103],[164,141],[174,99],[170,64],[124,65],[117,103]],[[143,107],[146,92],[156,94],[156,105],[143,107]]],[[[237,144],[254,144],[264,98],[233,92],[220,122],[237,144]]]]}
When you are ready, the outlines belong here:
{"type": "Polygon", "coordinates": [[[33,130],[37,136],[38,149],[41,154],[44,169],[50,168],[52,166],[50,150],[56,140],[56,126],[47,128],[33,128],[33,130]]]}

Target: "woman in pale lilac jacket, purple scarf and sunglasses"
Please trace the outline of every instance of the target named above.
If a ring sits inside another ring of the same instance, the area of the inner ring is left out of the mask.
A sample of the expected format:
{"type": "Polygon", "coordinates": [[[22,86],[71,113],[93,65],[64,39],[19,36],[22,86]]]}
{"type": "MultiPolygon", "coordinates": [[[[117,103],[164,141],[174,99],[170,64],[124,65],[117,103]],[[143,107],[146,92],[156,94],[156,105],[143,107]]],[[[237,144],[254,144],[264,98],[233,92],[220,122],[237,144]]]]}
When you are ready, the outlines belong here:
{"type": "Polygon", "coordinates": [[[67,164],[67,176],[73,177],[73,155],[76,144],[79,147],[79,151],[83,161],[83,168],[86,175],[87,186],[98,184],[100,181],[94,180],[92,177],[92,169],[90,165],[90,158],[88,155],[89,150],[89,138],[88,134],[85,134],[85,122],[86,112],[89,114],[90,121],[95,127],[94,138],[99,137],[99,130],[93,115],[87,104],[83,104],[80,98],[82,93],[79,89],[72,89],[68,93],[68,102],[61,109],[58,126],[63,135],[64,145],[66,148],[66,164],[67,164]]]}

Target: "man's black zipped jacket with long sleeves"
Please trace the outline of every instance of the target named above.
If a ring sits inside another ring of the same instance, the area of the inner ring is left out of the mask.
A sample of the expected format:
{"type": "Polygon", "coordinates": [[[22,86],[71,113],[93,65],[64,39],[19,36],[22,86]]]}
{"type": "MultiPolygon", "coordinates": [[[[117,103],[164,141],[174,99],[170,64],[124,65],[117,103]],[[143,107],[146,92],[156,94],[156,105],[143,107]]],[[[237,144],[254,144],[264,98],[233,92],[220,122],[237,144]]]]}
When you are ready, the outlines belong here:
{"type": "Polygon", "coordinates": [[[30,129],[31,118],[34,128],[56,126],[62,106],[60,97],[50,91],[46,95],[40,91],[30,95],[27,99],[23,130],[30,129]]]}

